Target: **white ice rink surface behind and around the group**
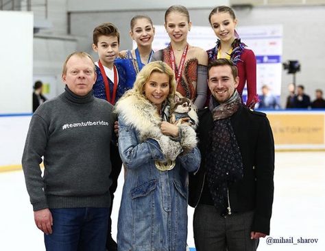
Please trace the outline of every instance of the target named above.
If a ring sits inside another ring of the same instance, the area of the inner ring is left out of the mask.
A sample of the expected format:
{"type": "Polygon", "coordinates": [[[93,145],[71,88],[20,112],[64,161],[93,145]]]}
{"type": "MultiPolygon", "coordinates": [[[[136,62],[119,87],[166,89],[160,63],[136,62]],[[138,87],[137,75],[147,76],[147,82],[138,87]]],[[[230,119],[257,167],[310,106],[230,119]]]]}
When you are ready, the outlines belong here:
{"type": "MultiPolygon", "coordinates": [[[[261,239],[258,250],[324,250],[325,152],[277,152],[274,184],[271,235],[261,239]]],[[[123,175],[112,212],[114,238],[122,185],[123,175]]],[[[45,250],[22,171],[0,172],[0,198],[0,250],[45,250]]],[[[189,208],[190,247],[194,247],[192,215],[189,208]]]]}

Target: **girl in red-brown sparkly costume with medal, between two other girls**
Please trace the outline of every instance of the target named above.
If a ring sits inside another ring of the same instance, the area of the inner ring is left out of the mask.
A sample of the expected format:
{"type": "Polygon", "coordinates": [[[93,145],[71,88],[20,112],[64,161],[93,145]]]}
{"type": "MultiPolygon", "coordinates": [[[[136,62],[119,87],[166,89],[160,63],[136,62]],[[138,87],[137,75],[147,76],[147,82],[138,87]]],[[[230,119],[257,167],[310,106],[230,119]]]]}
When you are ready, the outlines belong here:
{"type": "Polygon", "coordinates": [[[187,42],[191,30],[189,11],[182,5],[172,5],[165,12],[165,28],[171,38],[169,46],[154,53],[153,60],[167,63],[175,72],[177,91],[190,98],[197,108],[206,101],[208,55],[187,42]]]}

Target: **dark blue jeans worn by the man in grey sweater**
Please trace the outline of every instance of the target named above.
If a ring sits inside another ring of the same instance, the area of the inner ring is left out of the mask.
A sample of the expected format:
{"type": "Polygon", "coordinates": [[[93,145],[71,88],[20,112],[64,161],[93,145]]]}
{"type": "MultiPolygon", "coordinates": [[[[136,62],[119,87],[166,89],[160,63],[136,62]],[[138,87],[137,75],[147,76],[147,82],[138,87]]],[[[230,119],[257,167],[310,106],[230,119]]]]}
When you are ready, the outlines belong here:
{"type": "Polygon", "coordinates": [[[47,251],[105,251],[108,208],[50,209],[52,234],[44,235],[47,251]]]}

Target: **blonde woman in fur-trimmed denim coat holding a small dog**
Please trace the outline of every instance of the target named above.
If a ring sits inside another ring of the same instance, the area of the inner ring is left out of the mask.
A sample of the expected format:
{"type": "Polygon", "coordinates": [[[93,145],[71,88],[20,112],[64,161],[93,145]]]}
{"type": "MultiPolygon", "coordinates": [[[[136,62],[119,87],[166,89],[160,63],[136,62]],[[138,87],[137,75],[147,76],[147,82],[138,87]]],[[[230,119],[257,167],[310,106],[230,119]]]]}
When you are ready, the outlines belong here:
{"type": "MultiPolygon", "coordinates": [[[[175,93],[173,70],[152,62],[116,105],[119,153],[126,168],[119,251],[186,250],[188,172],[200,166],[200,152],[186,118],[168,122],[175,93]]],[[[193,109],[189,117],[197,121],[193,109]]]]}

